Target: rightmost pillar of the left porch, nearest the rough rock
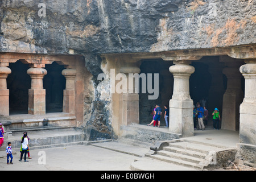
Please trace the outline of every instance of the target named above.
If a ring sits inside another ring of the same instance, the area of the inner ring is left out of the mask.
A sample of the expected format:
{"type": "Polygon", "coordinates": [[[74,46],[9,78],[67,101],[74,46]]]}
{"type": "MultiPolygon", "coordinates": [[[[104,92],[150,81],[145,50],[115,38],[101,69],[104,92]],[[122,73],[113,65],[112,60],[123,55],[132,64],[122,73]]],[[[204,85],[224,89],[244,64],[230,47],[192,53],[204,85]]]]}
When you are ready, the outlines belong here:
{"type": "Polygon", "coordinates": [[[63,112],[75,113],[75,77],[76,69],[67,68],[61,72],[66,78],[66,88],[63,90],[63,112]]]}

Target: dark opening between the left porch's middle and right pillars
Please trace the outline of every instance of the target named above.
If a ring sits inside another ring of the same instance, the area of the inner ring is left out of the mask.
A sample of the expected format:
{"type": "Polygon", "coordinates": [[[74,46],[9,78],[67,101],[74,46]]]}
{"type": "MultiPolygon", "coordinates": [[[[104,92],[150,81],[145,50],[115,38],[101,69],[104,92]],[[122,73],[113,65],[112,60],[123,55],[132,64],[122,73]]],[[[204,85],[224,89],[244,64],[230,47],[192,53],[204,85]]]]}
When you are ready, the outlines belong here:
{"type": "Polygon", "coordinates": [[[61,75],[64,65],[56,62],[47,64],[47,75],[43,78],[46,89],[46,113],[61,113],[63,111],[63,90],[65,89],[65,77],[61,75]]]}

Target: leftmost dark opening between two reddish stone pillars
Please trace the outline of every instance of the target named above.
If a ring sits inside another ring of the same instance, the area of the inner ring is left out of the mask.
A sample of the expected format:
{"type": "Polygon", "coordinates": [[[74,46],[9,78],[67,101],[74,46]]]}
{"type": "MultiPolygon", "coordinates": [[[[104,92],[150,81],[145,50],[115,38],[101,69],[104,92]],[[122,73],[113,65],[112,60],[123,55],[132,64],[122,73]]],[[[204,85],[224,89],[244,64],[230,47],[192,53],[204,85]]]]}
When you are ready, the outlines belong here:
{"type": "Polygon", "coordinates": [[[7,88],[9,89],[10,114],[28,113],[28,89],[31,87],[31,78],[27,74],[28,64],[18,60],[10,63],[11,74],[7,77],[7,88]]]}

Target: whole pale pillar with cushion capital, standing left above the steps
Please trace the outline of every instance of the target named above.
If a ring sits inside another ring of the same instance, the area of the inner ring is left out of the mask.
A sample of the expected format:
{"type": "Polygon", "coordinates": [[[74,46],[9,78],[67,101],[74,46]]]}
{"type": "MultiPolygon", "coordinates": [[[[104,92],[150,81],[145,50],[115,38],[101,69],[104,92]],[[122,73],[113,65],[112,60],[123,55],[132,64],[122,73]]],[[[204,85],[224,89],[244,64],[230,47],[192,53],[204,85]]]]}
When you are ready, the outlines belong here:
{"type": "Polygon", "coordinates": [[[189,77],[195,68],[189,65],[191,61],[174,61],[169,71],[174,75],[174,92],[170,100],[171,133],[191,137],[193,127],[193,101],[189,95],[189,77]]]}

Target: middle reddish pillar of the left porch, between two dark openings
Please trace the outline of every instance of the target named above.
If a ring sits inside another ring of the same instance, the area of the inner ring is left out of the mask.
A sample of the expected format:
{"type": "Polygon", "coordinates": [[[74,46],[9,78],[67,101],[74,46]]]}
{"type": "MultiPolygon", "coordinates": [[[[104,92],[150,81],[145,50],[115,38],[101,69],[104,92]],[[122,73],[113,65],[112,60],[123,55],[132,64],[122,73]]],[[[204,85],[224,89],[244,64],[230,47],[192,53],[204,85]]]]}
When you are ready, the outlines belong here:
{"type": "Polygon", "coordinates": [[[31,89],[28,90],[28,114],[46,114],[46,90],[43,89],[43,77],[47,75],[47,71],[42,66],[33,64],[32,68],[27,70],[27,74],[31,77],[31,89]]]}

